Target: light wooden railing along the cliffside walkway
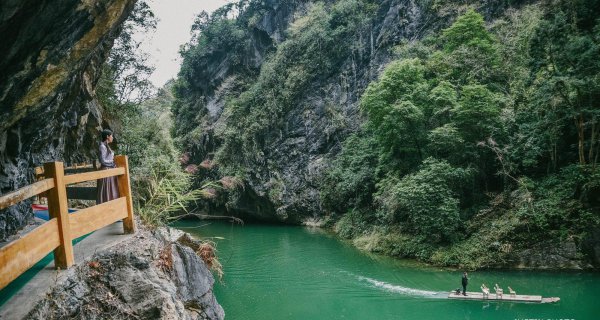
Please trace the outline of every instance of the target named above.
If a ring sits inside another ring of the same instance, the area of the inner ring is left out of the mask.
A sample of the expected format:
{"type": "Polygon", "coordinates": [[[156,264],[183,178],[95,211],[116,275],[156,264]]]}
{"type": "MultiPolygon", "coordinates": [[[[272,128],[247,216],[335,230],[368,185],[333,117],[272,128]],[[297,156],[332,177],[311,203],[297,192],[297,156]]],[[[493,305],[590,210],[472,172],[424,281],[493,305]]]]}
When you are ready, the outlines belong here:
{"type": "Polygon", "coordinates": [[[127,157],[116,156],[115,164],[114,169],[65,175],[62,162],[46,163],[42,180],[0,196],[0,209],[4,209],[45,192],[50,214],[48,222],[0,248],[0,289],[51,251],[55,267],[70,267],[74,263],[72,240],[115,221],[123,219],[125,233],[135,232],[127,157]],[[69,215],[67,185],[113,176],[118,180],[120,198],[69,215]]]}

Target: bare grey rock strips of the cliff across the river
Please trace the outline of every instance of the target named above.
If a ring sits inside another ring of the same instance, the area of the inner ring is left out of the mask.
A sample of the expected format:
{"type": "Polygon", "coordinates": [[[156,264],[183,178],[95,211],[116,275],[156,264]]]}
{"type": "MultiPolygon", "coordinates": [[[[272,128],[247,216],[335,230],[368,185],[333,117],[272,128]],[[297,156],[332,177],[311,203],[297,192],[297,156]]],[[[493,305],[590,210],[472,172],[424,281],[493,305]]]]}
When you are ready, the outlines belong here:
{"type": "MultiPolygon", "coordinates": [[[[252,27],[251,49],[235,53],[253,63],[236,67],[231,57],[215,49],[203,57],[206,63],[194,69],[197,84],[190,99],[196,99],[200,106],[194,110],[194,116],[201,118],[201,134],[194,141],[186,141],[194,163],[211,159],[219,147],[219,128],[227,121],[222,117],[226,97],[236,96],[231,83],[243,78],[248,69],[258,72],[263,57],[277,50],[285,41],[291,22],[301,17],[311,3],[261,2],[259,22],[252,27]]],[[[323,169],[328,159],[339,152],[341,141],[363,122],[358,108],[362,92],[393,58],[394,46],[446,27],[456,15],[452,11],[455,9],[434,11],[420,1],[385,0],[377,4],[372,26],[357,35],[361,43],[356,46],[361,49],[347,52],[333,74],[310,83],[295,106],[285,112],[281,125],[261,137],[266,141],[261,152],[267,161],[245,164],[245,169],[250,170],[245,181],[246,194],[235,201],[230,199],[229,209],[244,218],[292,223],[319,215],[318,186],[323,169]]],[[[486,3],[480,4],[478,10],[492,18],[506,7],[506,3],[486,3]]]]}

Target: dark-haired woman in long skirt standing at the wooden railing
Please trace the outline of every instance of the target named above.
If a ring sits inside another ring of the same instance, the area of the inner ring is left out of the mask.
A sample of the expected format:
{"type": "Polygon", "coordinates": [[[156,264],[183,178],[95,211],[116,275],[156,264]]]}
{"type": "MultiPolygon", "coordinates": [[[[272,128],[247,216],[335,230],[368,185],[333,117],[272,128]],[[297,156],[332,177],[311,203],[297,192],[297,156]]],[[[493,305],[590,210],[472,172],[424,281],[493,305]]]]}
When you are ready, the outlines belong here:
{"type": "MultiPolygon", "coordinates": [[[[108,145],[113,141],[112,131],[109,129],[102,130],[101,138],[102,141],[98,146],[100,170],[115,168],[115,153],[108,145]]],[[[98,179],[96,204],[119,198],[119,185],[117,183],[117,177],[98,179]]]]}

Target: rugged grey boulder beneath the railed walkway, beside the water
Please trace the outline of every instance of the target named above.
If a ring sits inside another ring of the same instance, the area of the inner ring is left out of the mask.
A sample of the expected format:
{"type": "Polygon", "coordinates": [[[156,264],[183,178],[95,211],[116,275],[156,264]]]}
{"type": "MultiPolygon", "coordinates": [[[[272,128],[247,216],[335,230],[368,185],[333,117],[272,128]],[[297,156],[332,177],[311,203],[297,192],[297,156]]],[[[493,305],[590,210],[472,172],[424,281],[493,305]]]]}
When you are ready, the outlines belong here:
{"type": "Polygon", "coordinates": [[[182,235],[142,231],[97,253],[70,270],[26,319],[223,319],[214,278],[194,250],[178,242],[182,235]]]}

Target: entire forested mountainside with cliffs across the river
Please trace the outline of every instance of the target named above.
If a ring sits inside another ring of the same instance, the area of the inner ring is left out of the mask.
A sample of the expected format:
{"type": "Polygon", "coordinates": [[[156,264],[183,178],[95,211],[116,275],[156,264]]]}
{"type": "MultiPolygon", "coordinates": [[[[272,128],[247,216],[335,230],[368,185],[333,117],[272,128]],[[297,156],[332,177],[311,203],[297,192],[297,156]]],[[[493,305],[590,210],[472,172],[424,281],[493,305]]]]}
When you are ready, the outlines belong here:
{"type": "MultiPolygon", "coordinates": [[[[316,221],[397,257],[580,267],[600,227],[599,5],[239,1],[197,17],[156,97],[106,76],[103,97],[129,110],[142,208],[164,180],[180,207],[316,221]]],[[[121,41],[106,75],[140,67],[111,64],[121,41]]]]}

